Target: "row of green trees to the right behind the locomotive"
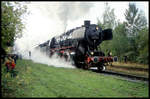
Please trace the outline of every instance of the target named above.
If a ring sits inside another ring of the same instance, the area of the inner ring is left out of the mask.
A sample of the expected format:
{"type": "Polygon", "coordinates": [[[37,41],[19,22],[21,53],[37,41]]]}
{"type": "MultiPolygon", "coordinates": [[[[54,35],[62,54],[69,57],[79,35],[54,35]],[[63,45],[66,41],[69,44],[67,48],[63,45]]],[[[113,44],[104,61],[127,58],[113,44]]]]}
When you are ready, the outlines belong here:
{"type": "Polygon", "coordinates": [[[113,39],[104,41],[99,45],[99,49],[105,53],[111,51],[120,62],[127,56],[130,62],[148,64],[149,30],[145,15],[134,3],[129,3],[124,16],[124,22],[116,20],[114,9],[111,9],[108,3],[105,4],[103,21],[98,19],[98,25],[103,29],[113,29],[113,39]]]}

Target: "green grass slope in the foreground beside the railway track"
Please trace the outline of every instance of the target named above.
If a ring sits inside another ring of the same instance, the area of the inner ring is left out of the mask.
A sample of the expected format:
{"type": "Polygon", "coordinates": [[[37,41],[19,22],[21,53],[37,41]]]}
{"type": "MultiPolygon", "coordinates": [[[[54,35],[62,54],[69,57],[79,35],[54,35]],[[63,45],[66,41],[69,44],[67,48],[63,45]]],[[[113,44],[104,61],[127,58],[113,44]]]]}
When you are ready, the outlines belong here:
{"type": "Polygon", "coordinates": [[[149,86],[81,69],[18,60],[11,78],[2,65],[3,97],[148,97],[149,86]]]}

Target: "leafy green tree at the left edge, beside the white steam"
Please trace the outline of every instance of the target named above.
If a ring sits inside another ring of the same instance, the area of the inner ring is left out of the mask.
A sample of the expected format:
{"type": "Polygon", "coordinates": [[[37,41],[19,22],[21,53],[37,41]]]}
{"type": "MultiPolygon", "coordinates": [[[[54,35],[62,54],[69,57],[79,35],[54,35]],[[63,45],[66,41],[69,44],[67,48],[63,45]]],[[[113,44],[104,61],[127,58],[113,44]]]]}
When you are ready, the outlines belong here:
{"type": "Polygon", "coordinates": [[[27,7],[18,2],[3,1],[1,18],[1,45],[3,49],[13,46],[14,40],[22,34],[24,24],[22,16],[27,12],[27,7]]]}

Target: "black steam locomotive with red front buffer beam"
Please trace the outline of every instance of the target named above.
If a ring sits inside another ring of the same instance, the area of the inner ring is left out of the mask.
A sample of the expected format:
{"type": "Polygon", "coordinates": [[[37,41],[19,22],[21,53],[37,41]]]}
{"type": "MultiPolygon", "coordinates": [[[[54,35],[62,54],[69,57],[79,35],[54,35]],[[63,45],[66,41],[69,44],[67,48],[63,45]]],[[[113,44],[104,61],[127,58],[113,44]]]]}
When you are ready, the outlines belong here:
{"type": "Polygon", "coordinates": [[[105,64],[113,62],[113,57],[105,56],[98,50],[98,45],[113,38],[112,29],[102,30],[89,20],[84,25],[71,29],[60,36],[55,36],[38,46],[49,57],[55,53],[64,57],[66,61],[73,61],[77,68],[89,69],[97,67],[99,71],[105,69],[105,64]]]}

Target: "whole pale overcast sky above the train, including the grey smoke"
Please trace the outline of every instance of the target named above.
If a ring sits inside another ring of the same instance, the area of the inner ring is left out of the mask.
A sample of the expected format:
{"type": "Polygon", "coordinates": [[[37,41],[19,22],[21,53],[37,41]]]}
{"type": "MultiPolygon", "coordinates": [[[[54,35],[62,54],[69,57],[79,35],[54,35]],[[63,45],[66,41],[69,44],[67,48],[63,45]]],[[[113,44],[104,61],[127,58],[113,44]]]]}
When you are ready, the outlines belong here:
{"type": "MultiPolygon", "coordinates": [[[[134,2],[143,10],[148,19],[148,2],[134,2]]],[[[129,2],[108,2],[115,9],[116,18],[125,21],[124,13],[129,2]]],[[[16,40],[22,51],[31,50],[36,45],[60,35],[64,31],[79,27],[84,20],[97,23],[102,20],[104,2],[30,2],[27,4],[31,14],[25,18],[26,29],[23,37],[16,40]]]]}

